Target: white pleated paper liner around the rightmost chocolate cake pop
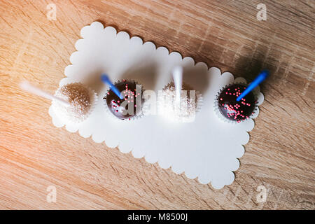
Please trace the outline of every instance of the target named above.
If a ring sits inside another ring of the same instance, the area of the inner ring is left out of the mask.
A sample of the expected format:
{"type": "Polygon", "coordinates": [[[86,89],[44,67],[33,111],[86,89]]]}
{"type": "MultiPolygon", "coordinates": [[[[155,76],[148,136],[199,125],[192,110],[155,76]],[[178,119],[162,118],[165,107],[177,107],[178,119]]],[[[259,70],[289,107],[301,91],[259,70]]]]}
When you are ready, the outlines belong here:
{"type": "MultiPolygon", "coordinates": [[[[246,85],[246,86],[248,86],[248,84],[246,83],[246,81],[239,81],[239,80],[234,81],[233,83],[230,83],[230,84],[228,84],[228,85],[225,85],[225,86],[221,87],[221,89],[217,92],[216,97],[215,97],[215,99],[214,99],[214,112],[216,113],[216,116],[217,116],[220,120],[223,120],[225,123],[230,123],[230,124],[238,124],[238,123],[237,123],[237,120],[229,120],[228,118],[225,118],[225,117],[223,116],[223,114],[222,114],[222,113],[220,112],[220,110],[218,109],[218,97],[219,97],[219,95],[221,94],[221,92],[222,92],[225,88],[227,88],[227,87],[229,87],[229,86],[231,86],[231,85],[234,85],[234,84],[240,84],[240,85],[246,85]]],[[[253,118],[254,114],[257,112],[257,107],[258,107],[258,105],[257,105],[256,102],[257,102],[257,100],[258,100],[258,95],[257,95],[257,92],[255,92],[255,91],[252,91],[252,92],[253,92],[253,95],[254,95],[254,97],[255,97],[255,109],[253,109],[253,113],[252,113],[250,116],[248,116],[248,118],[245,118],[244,120],[240,120],[239,123],[242,123],[242,122],[244,122],[245,120],[248,120],[248,119],[253,118]]]]}

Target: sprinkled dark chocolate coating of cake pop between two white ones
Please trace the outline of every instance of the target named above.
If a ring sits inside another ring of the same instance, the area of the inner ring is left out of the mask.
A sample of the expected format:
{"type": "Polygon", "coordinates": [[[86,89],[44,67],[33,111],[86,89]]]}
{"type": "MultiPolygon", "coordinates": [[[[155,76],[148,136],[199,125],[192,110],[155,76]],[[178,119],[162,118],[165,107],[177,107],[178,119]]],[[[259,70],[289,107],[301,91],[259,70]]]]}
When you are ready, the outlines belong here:
{"type": "Polygon", "coordinates": [[[121,120],[130,119],[134,116],[137,116],[139,111],[141,111],[141,104],[143,102],[141,88],[137,92],[137,84],[134,81],[127,80],[116,83],[115,86],[123,94],[124,98],[120,99],[115,94],[115,92],[109,90],[107,95],[104,97],[104,99],[106,99],[106,104],[109,107],[109,111],[111,111],[114,116],[121,120]],[[133,110],[129,110],[130,107],[133,107],[133,110]]]}

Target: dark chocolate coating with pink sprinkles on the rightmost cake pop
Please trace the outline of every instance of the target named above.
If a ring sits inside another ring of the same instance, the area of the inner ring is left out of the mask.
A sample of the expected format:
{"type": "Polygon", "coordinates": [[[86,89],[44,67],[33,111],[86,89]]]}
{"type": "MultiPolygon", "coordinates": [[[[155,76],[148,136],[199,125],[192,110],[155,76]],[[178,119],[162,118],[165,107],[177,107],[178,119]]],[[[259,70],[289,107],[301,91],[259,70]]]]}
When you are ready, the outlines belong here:
{"type": "Polygon", "coordinates": [[[239,102],[237,97],[246,89],[246,85],[232,84],[218,95],[218,110],[228,120],[246,120],[255,110],[255,96],[249,92],[239,102]]]}

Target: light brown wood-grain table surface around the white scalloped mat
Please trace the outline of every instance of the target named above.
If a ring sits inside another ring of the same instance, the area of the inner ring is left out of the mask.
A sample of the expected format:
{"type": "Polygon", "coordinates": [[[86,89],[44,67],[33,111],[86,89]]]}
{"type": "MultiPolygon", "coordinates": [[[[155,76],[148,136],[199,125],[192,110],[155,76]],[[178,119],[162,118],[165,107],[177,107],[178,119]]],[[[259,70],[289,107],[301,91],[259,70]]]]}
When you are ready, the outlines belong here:
{"type": "Polygon", "coordinates": [[[258,21],[261,2],[0,1],[0,209],[314,209],[314,1],[265,0],[258,21]],[[95,20],[249,81],[270,69],[232,185],[215,190],[58,129],[50,102],[19,89],[27,79],[55,92],[95,20]]]}

